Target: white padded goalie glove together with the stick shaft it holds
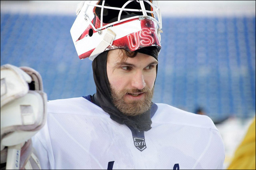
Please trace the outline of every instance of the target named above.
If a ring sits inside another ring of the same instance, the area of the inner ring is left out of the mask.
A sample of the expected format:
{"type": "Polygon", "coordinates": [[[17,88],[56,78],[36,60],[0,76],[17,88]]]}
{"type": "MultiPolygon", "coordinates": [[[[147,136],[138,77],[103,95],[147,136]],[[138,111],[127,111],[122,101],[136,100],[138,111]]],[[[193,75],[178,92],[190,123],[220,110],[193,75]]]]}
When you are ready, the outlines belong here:
{"type": "Polygon", "coordinates": [[[45,124],[46,101],[37,71],[1,66],[1,169],[41,169],[30,138],[45,124]]]}

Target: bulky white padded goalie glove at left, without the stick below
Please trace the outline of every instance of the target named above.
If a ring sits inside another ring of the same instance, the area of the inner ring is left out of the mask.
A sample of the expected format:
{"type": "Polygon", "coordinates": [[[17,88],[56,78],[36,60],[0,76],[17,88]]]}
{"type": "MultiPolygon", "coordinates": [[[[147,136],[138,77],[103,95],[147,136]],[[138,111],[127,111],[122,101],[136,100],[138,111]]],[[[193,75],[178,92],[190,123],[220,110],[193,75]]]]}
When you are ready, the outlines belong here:
{"type": "Polygon", "coordinates": [[[42,90],[42,78],[34,69],[1,66],[1,150],[26,142],[43,127],[47,96],[42,90]],[[29,90],[30,82],[35,90],[29,90]]]}

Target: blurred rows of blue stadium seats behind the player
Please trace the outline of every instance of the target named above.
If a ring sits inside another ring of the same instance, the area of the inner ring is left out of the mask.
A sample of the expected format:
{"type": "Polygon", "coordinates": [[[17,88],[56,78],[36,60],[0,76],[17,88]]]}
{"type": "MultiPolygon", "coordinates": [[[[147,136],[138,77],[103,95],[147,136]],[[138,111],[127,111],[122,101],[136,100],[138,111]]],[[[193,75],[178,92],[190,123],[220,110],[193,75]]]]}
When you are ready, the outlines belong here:
{"type": "MultiPolygon", "coordinates": [[[[1,13],[1,65],[30,66],[48,99],[95,93],[91,61],[79,60],[75,16],[1,13]]],[[[163,18],[153,101],[212,117],[255,115],[255,17],[163,18]]]]}

